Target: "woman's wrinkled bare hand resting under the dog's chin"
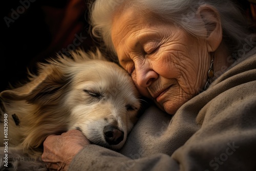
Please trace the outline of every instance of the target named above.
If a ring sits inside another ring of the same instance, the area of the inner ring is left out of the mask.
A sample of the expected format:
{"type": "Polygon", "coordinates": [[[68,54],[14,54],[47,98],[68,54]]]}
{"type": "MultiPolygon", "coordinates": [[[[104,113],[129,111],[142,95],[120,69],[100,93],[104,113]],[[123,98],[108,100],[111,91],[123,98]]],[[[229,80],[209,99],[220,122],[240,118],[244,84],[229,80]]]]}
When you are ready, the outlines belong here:
{"type": "Polygon", "coordinates": [[[89,144],[89,140],[78,130],[50,135],[44,142],[42,161],[50,170],[68,170],[74,156],[89,144]]]}

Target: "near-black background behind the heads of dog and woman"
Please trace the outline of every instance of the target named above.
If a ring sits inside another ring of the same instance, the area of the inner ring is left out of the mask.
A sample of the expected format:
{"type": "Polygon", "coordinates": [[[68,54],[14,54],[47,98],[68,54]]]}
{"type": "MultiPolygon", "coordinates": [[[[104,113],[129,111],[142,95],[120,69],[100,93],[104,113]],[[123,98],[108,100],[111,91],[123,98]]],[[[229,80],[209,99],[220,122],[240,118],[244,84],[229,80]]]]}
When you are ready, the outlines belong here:
{"type": "MultiPolygon", "coordinates": [[[[36,73],[37,62],[44,62],[57,52],[63,52],[62,48],[82,47],[90,50],[98,46],[90,36],[88,24],[88,4],[91,1],[94,0],[2,2],[0,92],[9,89],[10,85],[26,82],[27,69],[36,73]]],[[[246,0],[236,2],[256,22],[256,5],[246,0]]]]}

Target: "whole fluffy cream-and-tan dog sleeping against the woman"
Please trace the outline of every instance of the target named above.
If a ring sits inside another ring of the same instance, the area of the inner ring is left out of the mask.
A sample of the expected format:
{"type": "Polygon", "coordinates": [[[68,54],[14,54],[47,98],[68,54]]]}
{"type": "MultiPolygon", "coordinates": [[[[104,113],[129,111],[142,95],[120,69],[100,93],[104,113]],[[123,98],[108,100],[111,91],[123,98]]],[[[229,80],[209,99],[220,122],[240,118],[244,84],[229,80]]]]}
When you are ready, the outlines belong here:
{"type": "MultiPolygon", "coordinates": [[[[42,143],[50,134],[78,129],[93,144],[119,149],[136,122],[140,100],[129,74],[106,61],[99,50],[77,50],[71,56],[58,55],[40,63],[38,75],[30,74],[28,83],[0,94],[4,109],[0,134],[4,135],[4,114],[8,114],[7,154],[12,170],[18,165],[18,170],[44,170],[42,143]],[[107,135],[106,127],[118,135],[107,135]],[[112,143],[111,138],[119,140],[112,143]],[[24,161],[25,157],[30,161],[24,161]]],[[[1,147],[1,157],[3,153],[1,147]]],[[[1,170],[4,164],[1,158],[1,170]]]]}

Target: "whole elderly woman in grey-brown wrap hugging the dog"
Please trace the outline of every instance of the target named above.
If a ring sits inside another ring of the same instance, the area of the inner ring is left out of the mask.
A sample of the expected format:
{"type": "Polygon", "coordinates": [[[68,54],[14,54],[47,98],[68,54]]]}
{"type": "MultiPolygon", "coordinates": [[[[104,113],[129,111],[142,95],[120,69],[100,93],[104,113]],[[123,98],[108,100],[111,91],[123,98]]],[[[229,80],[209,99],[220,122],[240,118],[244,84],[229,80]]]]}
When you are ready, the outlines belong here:
{"type": "Polygon", "coordinates": [[[49,136],[42,155],[49,168],[256,169],[256,43],[234,4],[96,0],[91,22],[161,110],[145,111],[119,153],[79,131],[49,136]]]}

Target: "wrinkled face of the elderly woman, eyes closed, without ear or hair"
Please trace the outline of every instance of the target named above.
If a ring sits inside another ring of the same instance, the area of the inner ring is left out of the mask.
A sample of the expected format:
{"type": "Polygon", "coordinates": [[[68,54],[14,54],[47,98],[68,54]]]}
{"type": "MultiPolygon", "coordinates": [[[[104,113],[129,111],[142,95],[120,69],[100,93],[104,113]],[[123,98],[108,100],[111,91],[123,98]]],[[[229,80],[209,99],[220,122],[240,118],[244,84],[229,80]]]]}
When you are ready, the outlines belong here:
{"type": "Polygon", "coordinates": [[[198,94],[206,82],[210,59],[206,42],[172,23],[129,9],[116,13],[112,41],[120,65],[140,93],[169,114],[198,94]]]}

